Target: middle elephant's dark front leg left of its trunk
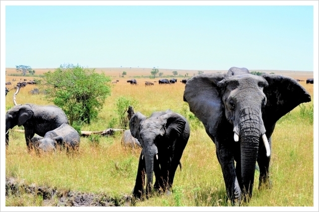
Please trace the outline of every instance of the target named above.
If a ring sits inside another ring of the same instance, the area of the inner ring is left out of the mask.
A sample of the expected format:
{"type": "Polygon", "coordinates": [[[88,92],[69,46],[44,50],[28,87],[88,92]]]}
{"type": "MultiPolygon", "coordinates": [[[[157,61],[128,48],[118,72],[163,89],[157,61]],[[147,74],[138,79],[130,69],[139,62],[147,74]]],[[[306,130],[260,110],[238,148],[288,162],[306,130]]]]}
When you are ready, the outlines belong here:
{"type": "Polygon", "coordinates": [[[136,176],[135,186],[133,189],[133,196],[135,198],[141,199],[144,194],[144,185],[145,185],[145,159],[142,160],[142,152],[139,159],[138,173],[136,176]]]}

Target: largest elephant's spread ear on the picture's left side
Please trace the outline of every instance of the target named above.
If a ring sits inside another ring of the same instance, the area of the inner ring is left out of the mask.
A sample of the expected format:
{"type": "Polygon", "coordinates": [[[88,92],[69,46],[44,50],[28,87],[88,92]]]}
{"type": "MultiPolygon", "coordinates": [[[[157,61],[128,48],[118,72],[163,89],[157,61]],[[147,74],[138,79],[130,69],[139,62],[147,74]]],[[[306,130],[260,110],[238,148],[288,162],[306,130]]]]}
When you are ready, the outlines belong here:
{"type": "Polygon", "coordinates": [[[189,110],[204,124],[213,136],[223,117],[220,88],[217,83],[225,74],[199,74],[187,80],[183,99],[189,110]]]}

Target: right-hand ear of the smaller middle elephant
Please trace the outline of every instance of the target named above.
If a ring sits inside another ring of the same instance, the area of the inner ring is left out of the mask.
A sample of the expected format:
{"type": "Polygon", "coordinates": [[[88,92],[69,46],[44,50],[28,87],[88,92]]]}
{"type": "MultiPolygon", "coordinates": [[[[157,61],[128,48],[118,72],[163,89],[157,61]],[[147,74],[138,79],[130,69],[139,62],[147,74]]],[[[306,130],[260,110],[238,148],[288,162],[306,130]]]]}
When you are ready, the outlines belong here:
{"type": "Polygon", "coordinates": [[[166,112],[168,113],[162,116],[163,119],[166,119],[166,135],[171,138],[179,137],[184,132],[186,120],[177,113],[166,112]]]}

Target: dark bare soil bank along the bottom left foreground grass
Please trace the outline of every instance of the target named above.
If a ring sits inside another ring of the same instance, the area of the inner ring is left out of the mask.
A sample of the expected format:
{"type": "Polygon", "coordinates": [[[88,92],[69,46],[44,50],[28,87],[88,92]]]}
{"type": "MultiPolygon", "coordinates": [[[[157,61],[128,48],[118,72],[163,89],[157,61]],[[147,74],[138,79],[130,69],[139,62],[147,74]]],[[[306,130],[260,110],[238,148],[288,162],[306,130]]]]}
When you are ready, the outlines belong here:
{"type": "Polygon", "coordinates": [[[41,196],[45,206],[130,206],[131,195],[122,197],[110,197],[106,194],[80,193],[75,191],[58,191],[57,189],[25,185],[14,178],[5,179],[5,196],[20,196],[31,194],[41,196]]]}

